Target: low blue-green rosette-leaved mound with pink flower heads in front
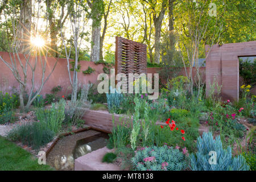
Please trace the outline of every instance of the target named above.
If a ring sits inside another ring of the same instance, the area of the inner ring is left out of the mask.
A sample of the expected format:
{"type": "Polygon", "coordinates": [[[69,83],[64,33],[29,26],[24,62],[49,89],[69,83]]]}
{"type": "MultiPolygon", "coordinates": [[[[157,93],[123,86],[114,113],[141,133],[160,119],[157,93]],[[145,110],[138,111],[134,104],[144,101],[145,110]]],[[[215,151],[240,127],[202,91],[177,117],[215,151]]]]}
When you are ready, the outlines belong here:
{"type": "Polygon", "coordinates": [[[141,148],[136,151],[131,162],[138,171],[181,171],[187,168],[186,156],[167,145],[141,148]]]}

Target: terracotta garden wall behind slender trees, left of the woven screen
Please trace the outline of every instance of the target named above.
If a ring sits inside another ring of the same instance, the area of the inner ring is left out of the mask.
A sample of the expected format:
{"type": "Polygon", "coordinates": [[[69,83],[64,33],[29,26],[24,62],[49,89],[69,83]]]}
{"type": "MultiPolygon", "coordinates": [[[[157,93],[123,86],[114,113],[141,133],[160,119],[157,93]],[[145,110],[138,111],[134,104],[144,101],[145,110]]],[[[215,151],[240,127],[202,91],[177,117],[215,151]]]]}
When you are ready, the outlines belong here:
{"type": "MultiPolygon", "coordinates": [[[[2,56],[4,60],[11,63],[9,53],[0,52],[0,56],[2,56]]],[[[22,58],[22,63],[24,64],[25,60],[24,60],[23,55],[20,55],[20,57],[22,58]]],[[[46,66],[47,67],[46,68],[46,77],[48,76],[51,68],[55,64],[56,59],[54,57],[48,57],[47,60],[48,60],[48,64],[46,66]]],[[[104,65],[102,65],[102,64],[96,65],[91,61],[80,61],[79,64],[81,64],[81,71],[84,71],[85,69],[87,69],[88,66],[96,69],[96,71],[91,73],[90,75],[84,75],[84,73],[79,72],[78,80],[81,84],[87,84],[89,81],[94,83],[97,80],[98,74],[103,73],[102,69],[104,68],[104,65]]],[[[19,66],[18,66],[18,68],[19,68],[19,66]]],[[[19,71],[20,71],[20,73],[22,73],[21,69],[19,69],[19,71]]],[[[36,89],[39,89],[39,86],[41,83],[41,77],[42,77],[42,68],[41,68],[41,65],[39,62],[38,62],[38,66],[36,67],[35,73],[36,73],[36,75],[35,75],[35,90],[36,90],[36,89]]],[[[72,72],[71,72],[71,74],[72,74],[72,72]]],[[[28,76],[27,77],[28,77],[27,88],[31,88],[32,73],[31,73],[31,69],[29,67],[28,67],[28,76]]],[[[46,93],[51,93],[51,89],[57,85],[63,86],[63,92],[60,93],[60,95],[65,94],[68,87],[70,86],[66,59],[59,59],[55,70],[53,71],[51,77],[49,77],[49,80],[44,85],[41,94],[45,95],[46,93]]],[[[2,60],[0,60],[0,91],[2,90],[4,92],[10,92],[11,88],[13,86],[18,88],[19,84],[15,80],[13,73],[10,71],[10,69],[3,63],[2,60]]],[[[69,93],[70,92],[71,91],[69,91],[69,93]]]]}

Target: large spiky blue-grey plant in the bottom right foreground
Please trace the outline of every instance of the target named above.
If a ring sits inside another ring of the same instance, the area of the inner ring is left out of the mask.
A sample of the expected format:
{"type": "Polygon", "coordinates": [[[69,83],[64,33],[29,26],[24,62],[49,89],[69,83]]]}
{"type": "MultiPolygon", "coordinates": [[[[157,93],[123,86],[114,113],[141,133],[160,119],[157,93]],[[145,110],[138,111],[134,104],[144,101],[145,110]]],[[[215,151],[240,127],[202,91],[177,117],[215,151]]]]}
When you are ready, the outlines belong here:
{"type": "Polygon", "coordinates": [[[230,146],[225,150],[222,148],[220,135],[213,139],[212,133],[203,133],[202,137],[197,138],[197,152],[192,154],[191,169],[193,171],[247,171],[249,166],[245,158],[238,155],[232,158],[230,146]],[[209,152],[216,152],[216,164],[209,163],[209,152]]]}

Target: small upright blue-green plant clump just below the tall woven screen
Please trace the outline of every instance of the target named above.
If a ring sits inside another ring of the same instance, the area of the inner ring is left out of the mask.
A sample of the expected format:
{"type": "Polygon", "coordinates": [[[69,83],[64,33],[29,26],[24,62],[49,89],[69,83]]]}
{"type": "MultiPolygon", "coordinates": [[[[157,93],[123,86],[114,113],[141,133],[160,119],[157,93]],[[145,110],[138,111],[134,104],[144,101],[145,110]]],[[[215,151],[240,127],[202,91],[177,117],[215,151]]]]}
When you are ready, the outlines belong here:
{"type": "Polygon", "coordinates": [[[109,89],[110,93],[106,93],[109,112],[117,112],[123,101],[123,94],[119,93],[119,90],[116,90],[115,88],[113,89],[112,86],[110,86],[109,89]]]}

